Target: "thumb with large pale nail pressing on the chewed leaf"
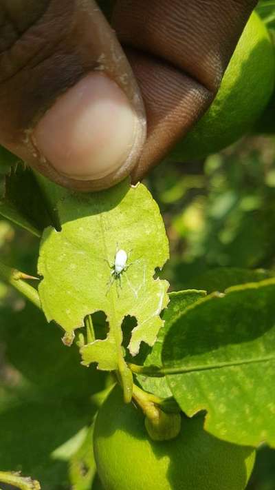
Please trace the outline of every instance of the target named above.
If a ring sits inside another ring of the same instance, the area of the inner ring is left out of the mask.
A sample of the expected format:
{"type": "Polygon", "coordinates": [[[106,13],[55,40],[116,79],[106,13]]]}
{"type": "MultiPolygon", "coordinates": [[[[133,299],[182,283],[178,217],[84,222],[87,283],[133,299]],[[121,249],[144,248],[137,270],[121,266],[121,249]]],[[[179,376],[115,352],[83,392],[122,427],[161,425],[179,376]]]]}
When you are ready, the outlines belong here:
{"type": "Polygon", "coordinates": [[[144,107],[94,0],[0,0],[0,22],[0,143],[74,189],[128,175],[144,107]]]}

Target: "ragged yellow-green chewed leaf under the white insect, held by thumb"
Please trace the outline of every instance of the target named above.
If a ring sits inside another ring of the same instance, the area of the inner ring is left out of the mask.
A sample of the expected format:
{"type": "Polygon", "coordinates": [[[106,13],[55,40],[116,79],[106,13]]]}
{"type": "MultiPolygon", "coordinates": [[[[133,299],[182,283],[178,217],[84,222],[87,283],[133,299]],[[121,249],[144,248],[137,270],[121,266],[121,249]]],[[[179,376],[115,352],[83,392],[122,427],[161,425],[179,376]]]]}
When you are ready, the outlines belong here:
{"type": "Polygon", "coordinates": [[[82,348],[83,363],[117,369],[125,316],[137,320],[131,354],[142,341],[153,345],[162,326],[168,283],[153,276],[168,258],[168,241],[159,209],[144,185],[124,181],[110,190],[70,195],[58,213],[61,232],[47,228],[41,242],[43,310],[63,327],[66,340],[83,327],[85,316],[104,312],[109,334],[82,348]],[[126,252],[122,270],[114,269],[118,249],[126,252]]]}

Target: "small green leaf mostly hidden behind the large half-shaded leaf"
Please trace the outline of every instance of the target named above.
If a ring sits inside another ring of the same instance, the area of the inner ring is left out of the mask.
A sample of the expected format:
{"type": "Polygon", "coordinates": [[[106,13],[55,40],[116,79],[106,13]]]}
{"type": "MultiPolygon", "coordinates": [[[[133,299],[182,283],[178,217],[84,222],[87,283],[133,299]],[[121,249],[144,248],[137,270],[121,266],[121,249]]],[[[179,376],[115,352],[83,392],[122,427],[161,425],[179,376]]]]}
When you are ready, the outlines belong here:
{"type": "MultiPolygon", "coordinates": [[[[148,369],[162,367],[162,345],[171,325],[177,318],[179,318],[179,316],[181,316],[181,314],[183,314],[188,306],[192,305],[205,295],[206,292],[196,291],[195,289],[169,294],[170,303],[162,317],[164,320],[164,327],[159,330],[155,345],[153,346],[151,353],[146,357],[144,367],[148,367],[148,369]]],[[[162,398],[172,396],[166,378],[150,378],[148,376],[139,375],[137,376],[137,380],[144,390],[149,391],[156,396],[162,398]]]]}

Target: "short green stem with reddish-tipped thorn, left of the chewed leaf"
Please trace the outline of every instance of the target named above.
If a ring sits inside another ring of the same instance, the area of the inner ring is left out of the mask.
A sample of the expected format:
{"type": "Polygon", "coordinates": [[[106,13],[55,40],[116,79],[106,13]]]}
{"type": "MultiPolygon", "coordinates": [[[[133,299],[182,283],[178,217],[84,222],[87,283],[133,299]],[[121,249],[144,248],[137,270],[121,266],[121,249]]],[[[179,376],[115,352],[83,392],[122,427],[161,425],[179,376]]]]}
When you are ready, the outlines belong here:
{"type": "Polygon", "coordinates": [[[17,289],[19,293],[23,294],[23,296],[31,301],[37,308],[41,309],[38,292],[30,284],[25,283],[23,278],[32,278],[32,276],[28,276],[28,274],[24,274],[17,269],[12,269],[0,262],[0,279],[17,289]]]}

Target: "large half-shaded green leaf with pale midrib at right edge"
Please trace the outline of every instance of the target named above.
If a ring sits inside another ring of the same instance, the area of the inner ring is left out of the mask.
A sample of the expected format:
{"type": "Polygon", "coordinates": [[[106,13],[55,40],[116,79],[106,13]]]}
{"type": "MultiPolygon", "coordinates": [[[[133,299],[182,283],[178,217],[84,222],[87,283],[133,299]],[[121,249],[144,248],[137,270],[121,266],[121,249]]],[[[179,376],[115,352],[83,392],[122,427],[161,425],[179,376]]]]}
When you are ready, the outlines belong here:
{"type": "Polygon", "coordinates": [[[275,445],[275,280],[232,287],[188,307],[162,352],[181,409],[241,445],[275,445]]]}

